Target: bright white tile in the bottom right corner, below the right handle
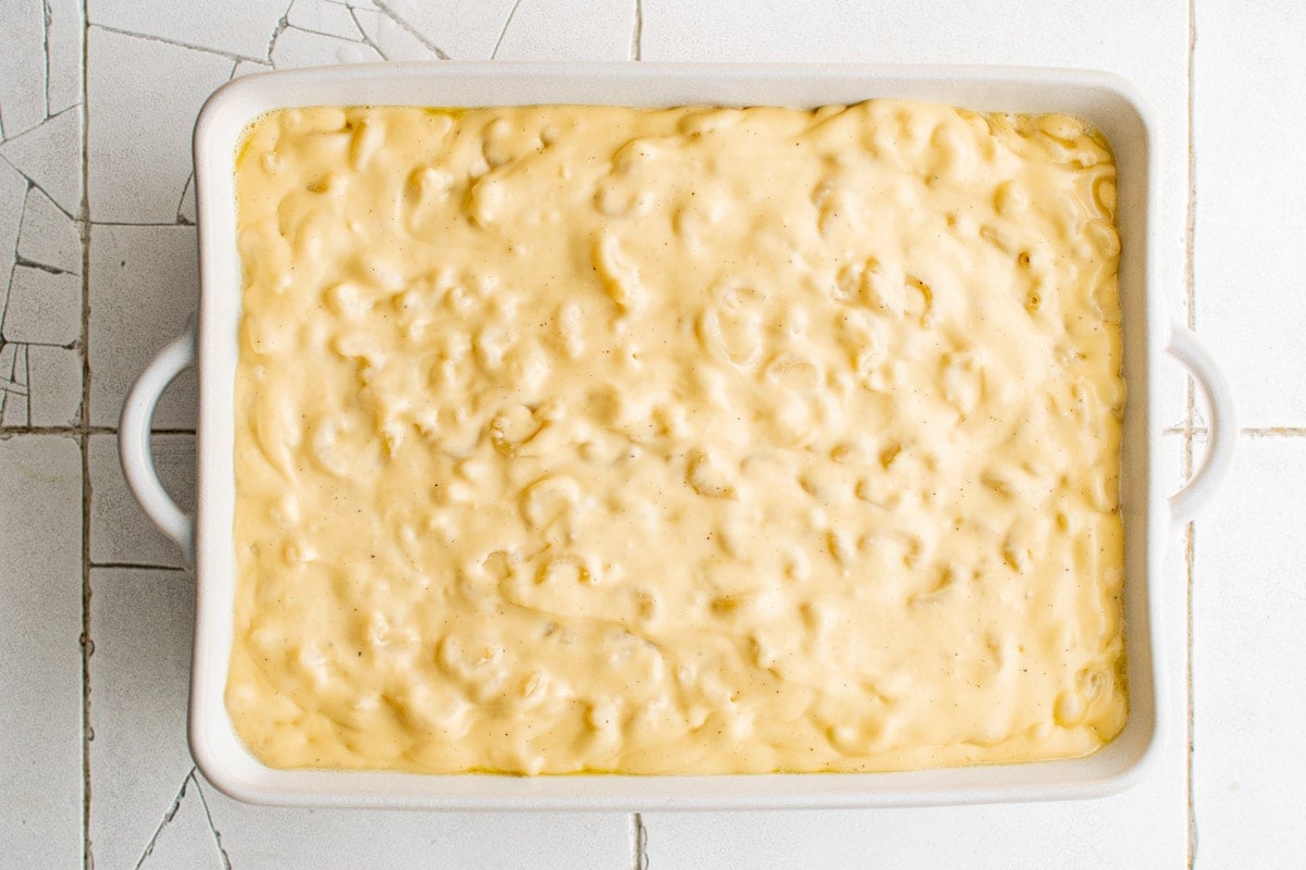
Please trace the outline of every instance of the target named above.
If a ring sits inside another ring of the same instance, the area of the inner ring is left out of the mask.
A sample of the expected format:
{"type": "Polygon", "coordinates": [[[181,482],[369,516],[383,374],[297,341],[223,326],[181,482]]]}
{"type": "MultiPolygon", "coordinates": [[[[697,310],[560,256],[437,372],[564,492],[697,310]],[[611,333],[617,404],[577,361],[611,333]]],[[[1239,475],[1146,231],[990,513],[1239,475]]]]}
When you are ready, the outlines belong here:
{"type": "Polygon", "coordinates": [[[1192,800],[1200,870],[1306,866],[1306,440],[1245,438],[1196,523],[1192,800]]]}

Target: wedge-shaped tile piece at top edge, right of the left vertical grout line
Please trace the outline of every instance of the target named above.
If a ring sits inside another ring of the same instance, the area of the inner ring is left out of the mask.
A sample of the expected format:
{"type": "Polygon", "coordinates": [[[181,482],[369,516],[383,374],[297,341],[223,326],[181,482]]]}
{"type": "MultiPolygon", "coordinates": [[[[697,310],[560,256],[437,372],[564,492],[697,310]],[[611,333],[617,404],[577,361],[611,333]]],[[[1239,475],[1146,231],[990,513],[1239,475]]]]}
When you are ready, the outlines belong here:
{"type": "Polygon", "coordinates": [[[290,0],[88,0],[88,18],[93,25],[208,48],[232,59],[259,60],[268,56],[268,42],[277,22],[286,14],[290,0]]]}

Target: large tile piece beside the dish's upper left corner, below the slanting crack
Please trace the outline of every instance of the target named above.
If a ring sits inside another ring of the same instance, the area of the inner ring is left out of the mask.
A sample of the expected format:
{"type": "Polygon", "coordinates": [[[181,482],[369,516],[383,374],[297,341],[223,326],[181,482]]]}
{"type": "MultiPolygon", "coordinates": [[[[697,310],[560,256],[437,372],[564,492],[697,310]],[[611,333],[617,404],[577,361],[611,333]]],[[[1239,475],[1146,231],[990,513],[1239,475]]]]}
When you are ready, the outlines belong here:
{"type": "MultiPolygon", "coordinates": [[[[165,4],[162,9],[189,13],[210,7],[165,4]]],[[[235,63],[101,27],[91,27],[88,39],[90,218],[175,223],[191,175],[195,119],[209,94],[231,77],[235,63]]]]}

